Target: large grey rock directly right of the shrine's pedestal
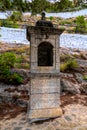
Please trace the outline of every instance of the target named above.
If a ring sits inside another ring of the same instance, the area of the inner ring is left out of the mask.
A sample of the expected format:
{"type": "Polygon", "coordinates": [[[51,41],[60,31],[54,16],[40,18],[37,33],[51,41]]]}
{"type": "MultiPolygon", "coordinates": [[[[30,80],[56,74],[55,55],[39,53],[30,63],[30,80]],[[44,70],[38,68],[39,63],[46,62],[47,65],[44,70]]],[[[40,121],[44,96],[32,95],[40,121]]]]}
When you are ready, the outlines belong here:
{"type": "Polygon", "coordinates": [[[61,79],[61,89],[62,92],[80,94],[80,85],[66,79],[61,79]]]}

